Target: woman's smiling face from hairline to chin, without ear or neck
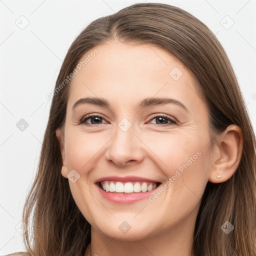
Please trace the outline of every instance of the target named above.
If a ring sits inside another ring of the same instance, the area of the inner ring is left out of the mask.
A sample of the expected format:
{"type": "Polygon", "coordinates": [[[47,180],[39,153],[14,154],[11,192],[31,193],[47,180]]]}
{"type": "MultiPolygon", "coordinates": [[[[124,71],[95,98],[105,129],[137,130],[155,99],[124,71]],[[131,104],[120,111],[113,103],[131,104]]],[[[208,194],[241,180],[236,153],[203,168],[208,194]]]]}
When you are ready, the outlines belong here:
{"type": "Polygon", "coordinates": [[[192,73],[152,44],[96,49],[76,68],[62,140],[61,173],[77,206],[94,230],[120,240],[193,225],[212,152],[192,73]]]}

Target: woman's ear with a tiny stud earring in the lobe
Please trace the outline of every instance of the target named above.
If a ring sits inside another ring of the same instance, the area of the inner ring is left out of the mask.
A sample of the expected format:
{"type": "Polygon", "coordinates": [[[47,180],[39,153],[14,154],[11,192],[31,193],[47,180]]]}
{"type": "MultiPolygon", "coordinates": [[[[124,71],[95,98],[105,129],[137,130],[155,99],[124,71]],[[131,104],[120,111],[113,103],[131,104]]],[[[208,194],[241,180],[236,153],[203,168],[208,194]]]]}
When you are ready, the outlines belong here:
{"type": "Polygon", "coordinates": [[[227,126],[214,145],[213,165],[208,177],[210,182],[224,182],[234,174],[241,159],[242,144],[241,128],[235,124],[227,126]]]}

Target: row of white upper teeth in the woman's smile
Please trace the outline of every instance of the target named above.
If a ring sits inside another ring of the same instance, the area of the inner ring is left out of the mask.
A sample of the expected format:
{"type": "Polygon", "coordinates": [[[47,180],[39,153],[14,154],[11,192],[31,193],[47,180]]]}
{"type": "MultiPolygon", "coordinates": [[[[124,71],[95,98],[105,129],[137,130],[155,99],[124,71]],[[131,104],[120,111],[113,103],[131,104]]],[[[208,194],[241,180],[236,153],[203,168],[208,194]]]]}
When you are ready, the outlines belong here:
{"type": "Polygon", "coordinates": [[[120,181],[101,181],[101,187],[106,192],[118,192],[118,193],[132,193],[132,192],[146,192],[151,191],[156,187],[155,182],[120,182],[120,181]]]}

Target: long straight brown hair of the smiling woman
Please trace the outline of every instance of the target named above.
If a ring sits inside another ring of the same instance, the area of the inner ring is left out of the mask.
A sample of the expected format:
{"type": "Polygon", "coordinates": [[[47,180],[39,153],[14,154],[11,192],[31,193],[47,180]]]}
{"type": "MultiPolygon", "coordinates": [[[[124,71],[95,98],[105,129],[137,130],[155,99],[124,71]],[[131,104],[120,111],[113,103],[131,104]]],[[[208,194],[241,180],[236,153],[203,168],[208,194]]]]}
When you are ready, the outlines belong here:
{"type": "Polygon", "coordinates": [[[70,81],[61,89],[59,84],[63,85],[84,53],[111,39],[153,43],[183,62],[194,74],[208,107],[213,138],[229,124],[241,127],[244,139],[239,166],[227,181],[207,183],[195,222],[192,253],[256,255],[256,141],[234,71],[205,24],[178,7],[160,3],[137,3],[100,17],[69,47],[56,80],[37,174],[23,209],[28,255],[83,256],[90,242],[90,224],[74,202],[68,179],[61,175],[55,131],[64,126],[70,81]],[[234,226],[229,234],[220,228],[226,220],[234,226]]]}

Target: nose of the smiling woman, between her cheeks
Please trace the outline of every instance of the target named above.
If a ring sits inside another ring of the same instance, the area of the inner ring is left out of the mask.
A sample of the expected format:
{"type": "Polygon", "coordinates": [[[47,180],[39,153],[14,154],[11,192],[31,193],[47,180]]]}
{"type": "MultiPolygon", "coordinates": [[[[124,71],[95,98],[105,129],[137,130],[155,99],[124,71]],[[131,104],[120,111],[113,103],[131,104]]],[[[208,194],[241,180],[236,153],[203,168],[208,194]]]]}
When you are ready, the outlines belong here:
{"type": "Polygon", "coordinates": [[[134,133],[133,125],[126,131],[120,127],[116,126],[115,135],[108,142],[106,160],[118,166],[130,166],[141,162],[144,157],[144,144],[136,132],[134,133]]]}

